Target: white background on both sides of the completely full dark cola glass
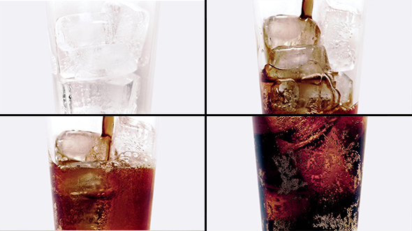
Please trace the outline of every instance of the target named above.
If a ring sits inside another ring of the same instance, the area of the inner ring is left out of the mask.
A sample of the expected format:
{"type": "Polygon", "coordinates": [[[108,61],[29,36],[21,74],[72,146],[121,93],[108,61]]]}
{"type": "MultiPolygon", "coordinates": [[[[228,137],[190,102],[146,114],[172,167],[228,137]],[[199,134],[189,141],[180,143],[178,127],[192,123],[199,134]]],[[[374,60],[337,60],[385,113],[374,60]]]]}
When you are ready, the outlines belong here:
{"type": "MultiPolygon", "coordinates": [[[[358,231],[412,230],[412,118],[369,116],[358,231]]],[[[261,230],[250,116],[207,117],[207,230],[261,230]]]]}

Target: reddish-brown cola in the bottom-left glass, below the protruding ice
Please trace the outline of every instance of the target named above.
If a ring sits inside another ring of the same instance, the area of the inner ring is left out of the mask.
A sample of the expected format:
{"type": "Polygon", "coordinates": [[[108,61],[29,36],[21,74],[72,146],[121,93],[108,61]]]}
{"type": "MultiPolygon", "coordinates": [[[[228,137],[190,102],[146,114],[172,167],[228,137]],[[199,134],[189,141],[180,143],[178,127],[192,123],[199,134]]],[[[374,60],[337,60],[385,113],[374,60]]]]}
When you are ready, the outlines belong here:
{"type": "Polygon", "coordinates": [[[56,230],[149,230],[154,168],[50,163],[56,230]]]}

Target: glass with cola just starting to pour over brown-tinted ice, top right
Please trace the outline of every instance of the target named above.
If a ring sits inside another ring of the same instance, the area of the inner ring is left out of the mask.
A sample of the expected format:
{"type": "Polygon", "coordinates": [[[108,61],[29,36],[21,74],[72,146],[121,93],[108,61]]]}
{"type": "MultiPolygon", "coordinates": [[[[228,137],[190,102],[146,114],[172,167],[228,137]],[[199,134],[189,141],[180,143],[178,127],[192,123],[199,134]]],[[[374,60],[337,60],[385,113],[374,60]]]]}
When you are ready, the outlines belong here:
{"type": "Polygon", "coordinates": [[[358,111],[364,0],[254,0],[262,111],[358,111]]]}

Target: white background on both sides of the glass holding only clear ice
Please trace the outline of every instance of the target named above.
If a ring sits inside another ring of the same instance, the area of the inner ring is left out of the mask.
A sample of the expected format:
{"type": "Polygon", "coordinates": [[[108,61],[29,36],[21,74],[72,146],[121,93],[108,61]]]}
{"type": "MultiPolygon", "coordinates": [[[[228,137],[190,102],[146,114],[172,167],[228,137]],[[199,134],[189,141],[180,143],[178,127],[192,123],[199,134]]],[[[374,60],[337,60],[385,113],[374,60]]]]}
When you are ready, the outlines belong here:
{"type": "MultiPolygon", "coordinates": [[[[205,113],[205,1],[161,1],[152,113],[205,113]]],[[[44,1],[0,1],[0,113],[54,113],[44,1]]]]}

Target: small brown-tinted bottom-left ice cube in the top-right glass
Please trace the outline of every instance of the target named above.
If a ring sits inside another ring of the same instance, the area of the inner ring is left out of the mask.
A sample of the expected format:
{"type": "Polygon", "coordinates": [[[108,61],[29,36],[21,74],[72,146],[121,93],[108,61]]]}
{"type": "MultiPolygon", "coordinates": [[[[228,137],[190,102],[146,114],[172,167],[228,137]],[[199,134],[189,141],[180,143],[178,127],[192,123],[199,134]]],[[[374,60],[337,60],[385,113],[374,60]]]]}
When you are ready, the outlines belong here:
{"type": "Polygon", "coordinates": [[[293,79],[278,79],[273,84],[270,102],[274,110],[294,112],[299,99],[299,86],[293,79]]]}

